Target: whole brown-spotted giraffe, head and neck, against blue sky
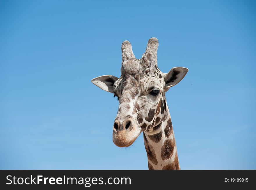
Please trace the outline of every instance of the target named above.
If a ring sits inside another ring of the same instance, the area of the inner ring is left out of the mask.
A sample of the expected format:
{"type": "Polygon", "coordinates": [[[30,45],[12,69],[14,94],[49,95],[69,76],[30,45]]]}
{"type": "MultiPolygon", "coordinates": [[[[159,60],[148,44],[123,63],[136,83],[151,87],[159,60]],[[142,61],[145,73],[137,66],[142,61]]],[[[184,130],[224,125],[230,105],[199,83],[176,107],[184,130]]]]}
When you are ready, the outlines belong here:
{"type": "Polygon", "coordinates": [[[158,39],[150,38],[141,59],[136,59],[131,43],[121,46],[120,78],[103,75],[91,82],[111,92],[119,101],[113,125],[113,142],[130,146],[143,132],[149,169],[180,169],[173,125],[165,93],[187,74],[185,67],[163,73],[157,66],[158,39]]]}

